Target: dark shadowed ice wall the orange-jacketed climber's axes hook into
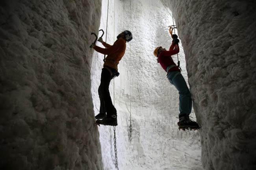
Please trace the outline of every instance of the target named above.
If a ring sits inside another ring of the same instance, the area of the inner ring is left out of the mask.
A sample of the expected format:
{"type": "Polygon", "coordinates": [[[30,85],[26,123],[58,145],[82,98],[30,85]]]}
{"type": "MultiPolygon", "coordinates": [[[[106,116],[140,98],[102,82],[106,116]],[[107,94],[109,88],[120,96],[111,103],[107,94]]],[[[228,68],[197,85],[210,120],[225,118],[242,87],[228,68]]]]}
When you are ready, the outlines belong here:
{"type": "Polygon", "coordinates": [[[100,8],[0,2],[0,169],[102,169],[89,48],[100,8]]]}

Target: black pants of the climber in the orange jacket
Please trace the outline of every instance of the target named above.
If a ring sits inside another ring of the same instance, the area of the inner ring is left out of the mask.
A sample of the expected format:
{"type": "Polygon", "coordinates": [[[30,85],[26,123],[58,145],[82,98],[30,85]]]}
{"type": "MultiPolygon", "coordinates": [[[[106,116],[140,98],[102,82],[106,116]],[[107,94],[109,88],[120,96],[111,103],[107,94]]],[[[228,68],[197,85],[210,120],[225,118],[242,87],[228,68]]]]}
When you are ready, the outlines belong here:
{"type": "Polygon", "coordinates": [[[98,94],[100,97],[100,113],[107,113],[107,116],[117,115],[109,94],[109,83],[113,77],[106,68],[102,68],[98,94]]]}

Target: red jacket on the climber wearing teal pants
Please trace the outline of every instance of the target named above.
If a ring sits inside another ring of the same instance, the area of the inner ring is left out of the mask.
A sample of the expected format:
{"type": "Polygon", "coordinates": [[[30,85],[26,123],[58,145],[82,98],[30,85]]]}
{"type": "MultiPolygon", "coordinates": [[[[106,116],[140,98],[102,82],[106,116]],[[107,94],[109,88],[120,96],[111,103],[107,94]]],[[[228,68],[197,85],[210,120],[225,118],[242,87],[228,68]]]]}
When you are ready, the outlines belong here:
{"type": "Polygon", "coordinates": [[[158,54],[158,63],[163,67],[163,69],[166,71],[166,68],[170,65],[175,65],[174,67],[170,68],[166,72],[169,73],[171,71],[179,71],[180,69],[177,67],[177,65],[173,62],[173,59],[171,55],[178,54],[180,52],[180,48],[178,44],[171,44],[169,51],[161,51],[160,54],[158,54]]]}

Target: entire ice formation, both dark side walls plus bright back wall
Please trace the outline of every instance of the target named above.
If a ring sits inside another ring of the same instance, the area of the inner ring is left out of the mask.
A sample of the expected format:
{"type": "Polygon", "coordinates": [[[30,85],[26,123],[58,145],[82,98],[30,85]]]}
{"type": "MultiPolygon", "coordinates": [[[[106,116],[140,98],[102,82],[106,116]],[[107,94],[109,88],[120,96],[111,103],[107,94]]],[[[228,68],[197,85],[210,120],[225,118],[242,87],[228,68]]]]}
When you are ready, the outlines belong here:
{"type": "Polygon", "coordinates": [[[104,56],[89,45],[99,29],[109,44],[123,30],[134,35],[110,86],[119,169],[255,169],[255,6],[238,0],[1,1],[0,169],[115,169],[113,128],[94,124],[104,56]],[[178,131],[178,92],[152,54],[171,44],[171,11],[199,132],[178,131]]]}

